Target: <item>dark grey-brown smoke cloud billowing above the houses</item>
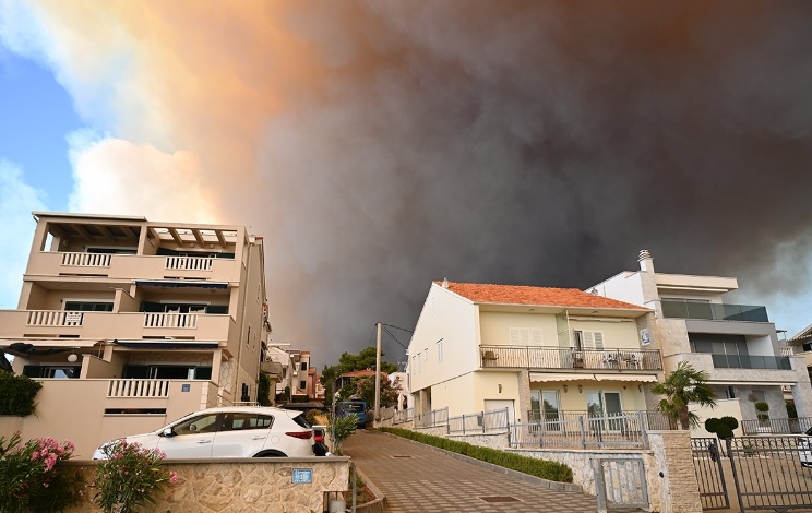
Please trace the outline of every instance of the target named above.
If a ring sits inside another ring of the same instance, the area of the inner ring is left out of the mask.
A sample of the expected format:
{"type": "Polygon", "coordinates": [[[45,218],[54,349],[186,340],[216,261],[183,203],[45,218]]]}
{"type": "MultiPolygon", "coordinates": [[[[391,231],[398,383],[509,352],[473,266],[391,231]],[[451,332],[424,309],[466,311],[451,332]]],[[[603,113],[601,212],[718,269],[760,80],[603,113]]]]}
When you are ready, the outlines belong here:
{"type": "Polygon", "coordinates": [[[319,363],[414,327],[446,276],[584,288],[647,248],[762,303],[809,286],[812,3],[297,2],[286,24],[319,85],[266,123],[255,201],[274,339],[319,363]]]}

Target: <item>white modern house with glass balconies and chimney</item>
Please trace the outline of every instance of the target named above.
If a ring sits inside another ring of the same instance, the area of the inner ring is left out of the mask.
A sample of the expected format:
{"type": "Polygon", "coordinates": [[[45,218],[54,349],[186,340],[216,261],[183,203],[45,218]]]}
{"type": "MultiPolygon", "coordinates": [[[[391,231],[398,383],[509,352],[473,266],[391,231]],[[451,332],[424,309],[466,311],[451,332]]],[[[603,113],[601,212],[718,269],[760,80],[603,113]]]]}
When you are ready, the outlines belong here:
{"type": "Polygon", "coordinates": [[[765,307],[724,300],[739,287],[735,277],[656,273],[646,250],[638,262],[640,271],[624,271],[589,291],[654,310],[644,336],[648,347],[661,351],[666,372],[689,361],[709,377],[718,407],[697,415],[730,415],[742,420],[749,432],[769,431],[787,425],[786,394],[795,401],[799,417],[812,416],[803,357],[781,353],[765,307]],[[769,418],[783,422],[759,422],[757,402],[767,403],[769,418]]]}

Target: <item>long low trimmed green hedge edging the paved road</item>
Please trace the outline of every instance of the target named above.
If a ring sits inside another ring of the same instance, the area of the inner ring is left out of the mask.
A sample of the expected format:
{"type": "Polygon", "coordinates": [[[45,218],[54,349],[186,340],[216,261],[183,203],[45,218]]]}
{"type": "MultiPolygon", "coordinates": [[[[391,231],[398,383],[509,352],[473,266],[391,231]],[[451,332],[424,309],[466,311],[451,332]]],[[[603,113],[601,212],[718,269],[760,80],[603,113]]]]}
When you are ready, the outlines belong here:
{"type": "Polygon", "coordinates": [[[563,463],[551,462],[549,460],[537,460],[535,457],[522,456],[520,454],[500,451],[491,448],[480,448],[458,440],[450,440],[443,437],[418,433],[408,429],[399,428],[381,428],[382,431],[396,434],[398,437],[415,440],[416,442],[432,445],[445,451],[463,454],[500,467],[510,468],[511,470],[521,472],[530,476],[540,477],[558,482],[572,482],[572,468],[563,463]]]}

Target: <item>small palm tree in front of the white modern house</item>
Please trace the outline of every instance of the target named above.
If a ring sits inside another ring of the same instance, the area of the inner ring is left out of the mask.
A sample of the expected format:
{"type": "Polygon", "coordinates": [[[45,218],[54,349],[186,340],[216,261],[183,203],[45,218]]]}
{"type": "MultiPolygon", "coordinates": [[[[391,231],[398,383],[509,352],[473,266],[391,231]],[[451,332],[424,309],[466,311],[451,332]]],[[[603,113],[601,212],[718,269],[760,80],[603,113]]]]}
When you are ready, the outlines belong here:
{"type": "Polygon", "coordinates": [[[652,392],[666,396],[657,405],[657,410],[666,414],[672,422],[679,420],[682,429],[697,427],[700,418],[688,409],[689,403],[716,407],[716,394],[706,383],[707,379],[707,372],[694,369],[688,361],[680,361],[666,381],[652,386],[652,392]]]}

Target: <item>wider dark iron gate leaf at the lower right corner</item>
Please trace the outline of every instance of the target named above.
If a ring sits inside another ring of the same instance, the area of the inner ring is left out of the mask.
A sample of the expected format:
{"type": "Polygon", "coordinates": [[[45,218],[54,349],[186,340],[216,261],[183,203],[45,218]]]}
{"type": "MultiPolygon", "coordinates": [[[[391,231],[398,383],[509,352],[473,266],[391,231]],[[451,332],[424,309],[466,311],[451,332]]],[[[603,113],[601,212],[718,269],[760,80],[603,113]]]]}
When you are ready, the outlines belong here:
{"type": "Polygon", "coordinates": [[[741,511],[812,508],[812,437],[726,440],[741,511]]]}

